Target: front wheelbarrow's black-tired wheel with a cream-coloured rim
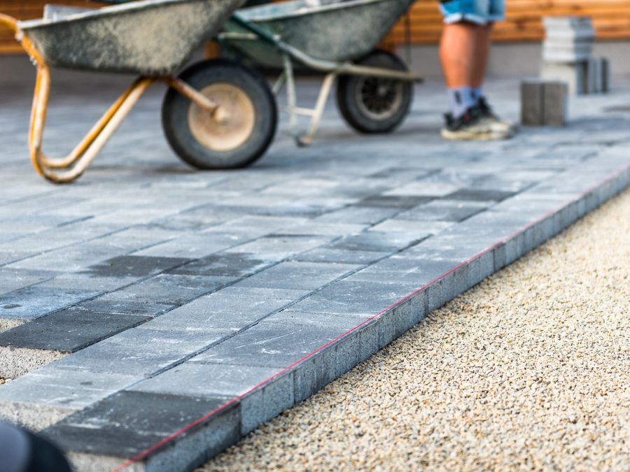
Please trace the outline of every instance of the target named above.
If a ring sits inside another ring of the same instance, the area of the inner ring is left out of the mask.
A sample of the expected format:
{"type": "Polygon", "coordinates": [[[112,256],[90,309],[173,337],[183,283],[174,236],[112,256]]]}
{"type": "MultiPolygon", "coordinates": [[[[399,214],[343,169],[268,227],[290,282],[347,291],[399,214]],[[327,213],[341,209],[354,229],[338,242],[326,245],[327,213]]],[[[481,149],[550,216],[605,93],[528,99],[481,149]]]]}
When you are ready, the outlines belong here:
{"type": "Polygon", "coordinates": [[[253,164],[277,128],[274,96],[257,71],[227,59],[200,62],[181,80],[221,107],[222,120],[174,89],[162,106],[162,126],[181,159],[197,169],[238,169],[253,164]]]}

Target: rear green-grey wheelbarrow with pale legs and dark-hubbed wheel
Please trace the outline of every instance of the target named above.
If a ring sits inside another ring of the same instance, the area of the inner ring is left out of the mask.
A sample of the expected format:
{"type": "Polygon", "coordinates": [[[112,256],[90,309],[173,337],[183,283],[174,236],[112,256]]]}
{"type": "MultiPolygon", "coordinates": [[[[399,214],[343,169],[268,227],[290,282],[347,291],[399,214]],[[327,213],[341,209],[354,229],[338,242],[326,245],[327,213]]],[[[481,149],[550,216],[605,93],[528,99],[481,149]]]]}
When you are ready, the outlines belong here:
{"type": "Polygon", "coordinates": [[[374,48],[412,3],[295,0],[243,8],[225,24],[218,41],[234,57],[283,71],[273,91],[279,94],[286,85],[298,145],[313,140],[336,78],[337,106],[346,122],[361,133],[386,133],[409,114],[413,83],[422,78],[396,55],[374,48]],[[295,67],[325,73],[314,109],[297,106],[295,67]],[[300,115],[311,118],[305,134],[298,128],[300,115]]]}

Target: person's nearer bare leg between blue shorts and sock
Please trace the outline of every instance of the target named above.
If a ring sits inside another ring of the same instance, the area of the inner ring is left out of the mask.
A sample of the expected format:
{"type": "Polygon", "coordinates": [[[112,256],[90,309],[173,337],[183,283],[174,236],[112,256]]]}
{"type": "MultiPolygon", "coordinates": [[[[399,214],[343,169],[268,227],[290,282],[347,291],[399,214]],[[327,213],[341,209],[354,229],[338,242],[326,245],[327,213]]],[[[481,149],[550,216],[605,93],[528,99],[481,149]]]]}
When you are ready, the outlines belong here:
{"type": "MultiPolygon", "coordinates": [[[[470,22],[447,24],[440,43],[440,60],[449,88],[472,87],[477,78],[477,42],[482,27],[470,22]]],[[[485,69],[485,67],[484,67],[485,69]]]]}

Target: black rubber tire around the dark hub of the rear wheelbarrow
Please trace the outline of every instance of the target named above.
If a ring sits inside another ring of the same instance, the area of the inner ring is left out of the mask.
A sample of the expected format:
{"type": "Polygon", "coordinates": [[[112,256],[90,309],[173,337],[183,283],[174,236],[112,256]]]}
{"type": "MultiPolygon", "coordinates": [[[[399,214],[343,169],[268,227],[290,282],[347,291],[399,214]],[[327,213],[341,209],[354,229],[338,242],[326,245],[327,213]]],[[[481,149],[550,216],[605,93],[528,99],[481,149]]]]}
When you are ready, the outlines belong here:
{"type": "MultiPolygon", "coordinates": [[[[375,49],[367,56],[360,59],[357,64],[361,66],[381,67],[384,69],[394,69],[397,71],[408,71],[407,64],[402,62],[398,56],[390,52],[375,49]]],[[[358,87],[364,78],[359,76],[342,76],[337,82],[337,108],[344,120],[363,134],[383,134],[391,133],[405,121],[414,99],[414,84],[410,81],[401,81],[400,93],[402,99],[395,112],[385,119],[375,120],[374,117],[366,115],[358,103],[358,87]]],[[[377,79],[382,80],[382,79],[377,79]]],[[[388,80],[388,79],[384,79],[388,80]]]]}

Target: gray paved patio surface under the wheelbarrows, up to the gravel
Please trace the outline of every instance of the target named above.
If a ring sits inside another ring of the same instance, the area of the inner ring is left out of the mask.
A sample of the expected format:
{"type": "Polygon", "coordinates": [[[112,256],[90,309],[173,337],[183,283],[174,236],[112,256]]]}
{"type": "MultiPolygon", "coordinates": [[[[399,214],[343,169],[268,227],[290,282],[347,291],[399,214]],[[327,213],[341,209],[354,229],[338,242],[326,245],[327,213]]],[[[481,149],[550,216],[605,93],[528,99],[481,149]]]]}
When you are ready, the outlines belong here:
{"type": "MultiPolygon", "coordinates": [[[[60,87],[50,154],[113,82],[60,87]]],[[[0,415],[85,470],[201,464],[630,180],[630,88],[577,99],[566,129],[452,144],[429,83],[392,136],[330,108],[311,148],[281,129],[251,169],[214,173],[167,148],[156,91],[55,187],[27,161],[29,87],[0,89],[0,415]]],[[[517,83],[489,89],[516,119],[517,83]]]]}

